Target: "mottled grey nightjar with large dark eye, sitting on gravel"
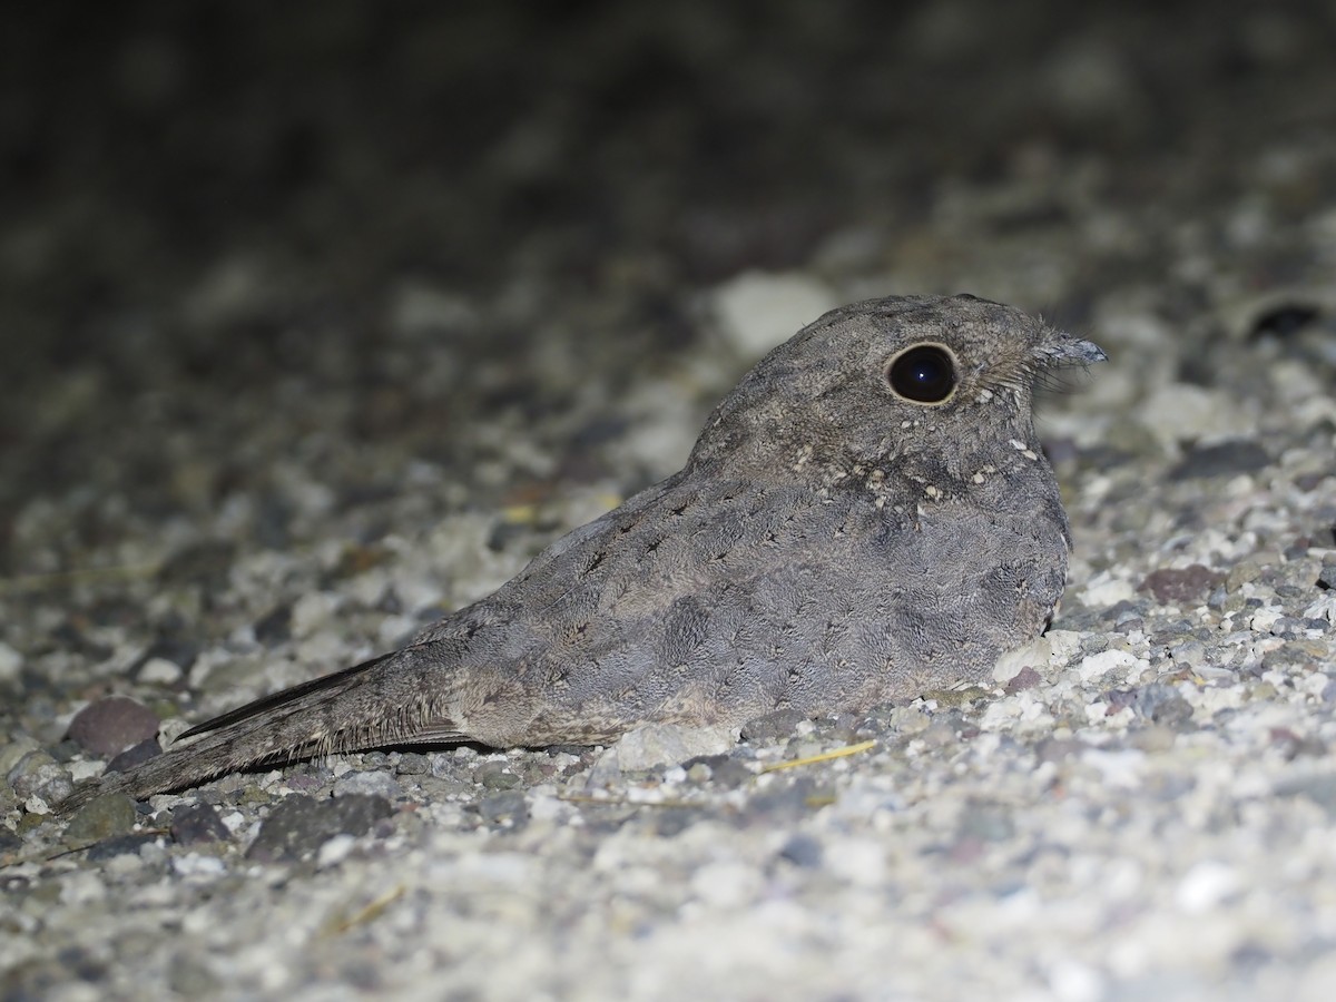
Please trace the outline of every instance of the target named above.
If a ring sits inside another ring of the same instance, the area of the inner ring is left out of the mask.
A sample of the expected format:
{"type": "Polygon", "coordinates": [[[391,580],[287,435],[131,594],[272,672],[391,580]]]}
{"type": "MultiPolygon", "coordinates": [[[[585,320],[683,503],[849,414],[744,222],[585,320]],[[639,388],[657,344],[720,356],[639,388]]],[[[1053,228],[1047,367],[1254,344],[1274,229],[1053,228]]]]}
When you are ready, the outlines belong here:
{"type": "Polygon", "coordinates": [[[736,725],[986,681],[1045,628],[1066,577],[1033,385],[1102,358],[973,297],[834,310],[743,378],[681,472],[490,597],[92,792],[377,745],[588,744],[645,721],[736,725]]]}

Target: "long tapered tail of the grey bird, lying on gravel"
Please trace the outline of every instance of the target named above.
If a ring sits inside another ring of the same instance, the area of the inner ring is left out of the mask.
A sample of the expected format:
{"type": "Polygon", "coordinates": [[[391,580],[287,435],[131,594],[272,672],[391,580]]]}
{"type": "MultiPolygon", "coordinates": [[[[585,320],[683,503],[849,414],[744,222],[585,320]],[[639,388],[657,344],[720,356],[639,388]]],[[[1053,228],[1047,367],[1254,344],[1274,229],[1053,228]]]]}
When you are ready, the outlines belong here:
{"type": "Polygon", "coordinates": [[[432,699],[433,671],[425,644],[395,651],[293,688],[263,696],[206,720],[182,737],[204,735],[128,772],[111,772],[80,787],[61,806],[68,812],[104,794],[143,799],[199,786],[227,772],[297,762],[315,755],[386,744],[466,740],[432,699]],[[405,692],[411,697],[405,697],[405,692]]]}

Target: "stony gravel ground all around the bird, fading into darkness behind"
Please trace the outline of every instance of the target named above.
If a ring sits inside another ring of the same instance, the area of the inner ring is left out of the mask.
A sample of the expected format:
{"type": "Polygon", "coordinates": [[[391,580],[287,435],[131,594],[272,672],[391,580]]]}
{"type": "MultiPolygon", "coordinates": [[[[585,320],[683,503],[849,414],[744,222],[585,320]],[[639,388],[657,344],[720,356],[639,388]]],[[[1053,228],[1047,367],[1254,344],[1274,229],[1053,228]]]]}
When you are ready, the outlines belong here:
{"type": "Polygon", "coordinates": [[[3,15],[0,998],[1336,997],[1336,5],[663,7],[3,15]],[[995,688],[52,812],[911,291],[1112,358],[995,688]]]}

